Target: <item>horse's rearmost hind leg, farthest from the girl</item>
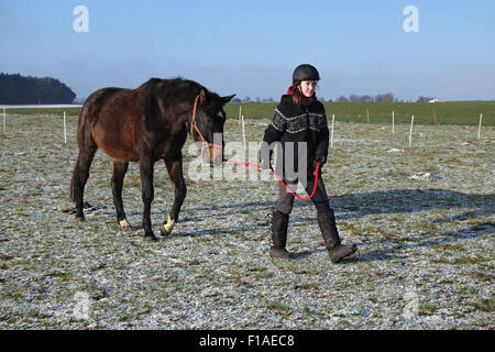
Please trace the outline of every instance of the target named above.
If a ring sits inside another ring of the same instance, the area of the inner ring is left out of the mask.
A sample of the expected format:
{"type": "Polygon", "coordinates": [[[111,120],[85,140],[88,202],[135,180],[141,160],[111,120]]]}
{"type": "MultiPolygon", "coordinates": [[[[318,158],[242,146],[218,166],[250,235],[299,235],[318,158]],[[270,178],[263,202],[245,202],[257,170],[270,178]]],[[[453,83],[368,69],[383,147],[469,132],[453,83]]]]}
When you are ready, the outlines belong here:
{"type": "Polygon", "coordinates": [[[77,156],[70,186],[70,196],[76,204],[77,220],[85,220],[82,211],[85,186],[89,177],[89,167],[97,150],[98,146],[96,144],[91,144],[87,148],[79,147],[79,155],[77,156]]]}

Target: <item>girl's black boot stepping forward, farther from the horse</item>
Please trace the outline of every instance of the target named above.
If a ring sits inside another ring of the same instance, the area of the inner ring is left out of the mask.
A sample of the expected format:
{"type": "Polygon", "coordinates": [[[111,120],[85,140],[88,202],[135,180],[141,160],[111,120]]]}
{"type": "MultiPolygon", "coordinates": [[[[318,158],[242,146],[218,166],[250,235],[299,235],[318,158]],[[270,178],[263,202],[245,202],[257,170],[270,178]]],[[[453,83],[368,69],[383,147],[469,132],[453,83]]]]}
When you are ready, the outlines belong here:
{"type": "Polygon", "coordinates": [[[340,243],[339,231],[336,226],[336,216],[333,210],[318,213],[318,224],[327,245],[328,255],[333,263],[338,263],[345,256],[353,254],[358,246],[355,244],[343,245],[340,243]]]}

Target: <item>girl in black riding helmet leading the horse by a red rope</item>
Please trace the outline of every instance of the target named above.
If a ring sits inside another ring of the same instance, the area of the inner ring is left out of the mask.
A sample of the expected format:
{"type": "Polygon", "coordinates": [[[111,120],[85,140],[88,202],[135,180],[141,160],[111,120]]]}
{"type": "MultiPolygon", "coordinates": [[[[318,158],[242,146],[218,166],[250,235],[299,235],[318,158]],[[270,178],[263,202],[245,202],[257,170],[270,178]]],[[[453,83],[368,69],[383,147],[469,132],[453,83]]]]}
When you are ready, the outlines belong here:
{"type": "MultiPolygon", "coordinates": [[[[320,76],[318,70],[308,64],[299,65],[293,74],[293,85],[287,95],[282,96],[280,103],[275,109],[273,120],[265,130],[263,146],[261,151],[261,162],[264,169],[271,168],[272,148],[268,147],[273,142],[280,142],[283,146],[293,142],[295,146],[298,143],[306,143],[306,170],[307,183],[305,186],[308,194],[312,193],[315,177],[312,175],[317,163],[320,163],[320,169],[327,161],[329,131],[324,107],[319,102],[315,95],[315,89],[320,76]]],[[[278,160],[285,166],[287,158],[286,147],[278,154],[278,160]],[[280,155],[282,154],[282,155],[280,155]]],[[[298,151],[293,153],[293,165],[301,165],[298,161],[298,151]]],[[[277,165],[279,165],[277,163],[277,165]]],[[[298,178],[286,177],[284,167],[284,183],[292,189],[297,186],[298,178]]],[[[340,242],[339,232],[336,226],[336,217],[330,208],[327,191],[324,189],[321,176],[317,179],[317,188],[311,198],[318,211],[318,224],[324,239],[324,244],[333,263],[340,262],[343,257],[353,254],[358,246],[355,244],[343,245],[340,242]]],[[[287,227],[289,213],[293,210],[294,196],[288,193],[284,186],[278,185],[278,204],[273,211],[272,220],[272,242],[270,255],[272,257],[289,258],[290,254],[285,249],[287,242],[287,227]]]]}

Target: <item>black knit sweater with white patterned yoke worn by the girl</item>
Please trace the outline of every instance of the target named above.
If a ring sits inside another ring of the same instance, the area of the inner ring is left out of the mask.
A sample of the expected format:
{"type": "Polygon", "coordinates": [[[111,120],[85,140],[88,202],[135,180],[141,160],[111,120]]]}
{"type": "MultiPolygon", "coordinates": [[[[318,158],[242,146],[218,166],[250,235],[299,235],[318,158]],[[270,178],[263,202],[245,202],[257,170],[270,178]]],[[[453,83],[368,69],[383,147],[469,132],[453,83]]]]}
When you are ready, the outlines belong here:
{"type": "MultiPolygon", "coordinates": [[[[299,162],[297,143],[306,142],[307,154],[302,155],[305,160],[300,162],[306,163],[308,174],[312,174],[315,158],[320,155],[327,158],[328,155],[329,131],[323,105],[314,101],[309,106],[298,107],[293,102],[289,95],[282,96],[280,103],[273,114],[273,120],[265,130],[263,141],[268,145],[273,142],[282,142],[284,151],[287,142],[294,142],[295,172],[297,172],[299,162]]],[[[282,160],[280,157],[283,155],[278,155],[276,165],[280,165],[282,162],[282,165],[285,166],[283,162],[285,156],[282,160]]]]}

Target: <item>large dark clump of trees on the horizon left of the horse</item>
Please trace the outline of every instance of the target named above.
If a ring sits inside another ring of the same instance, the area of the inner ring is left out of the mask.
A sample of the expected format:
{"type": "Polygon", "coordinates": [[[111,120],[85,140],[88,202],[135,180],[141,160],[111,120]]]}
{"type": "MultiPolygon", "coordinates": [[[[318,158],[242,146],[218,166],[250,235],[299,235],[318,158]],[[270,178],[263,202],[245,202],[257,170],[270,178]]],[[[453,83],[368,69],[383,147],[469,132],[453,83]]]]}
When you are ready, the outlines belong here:
{"type": "Polygon", "coordinates": [[[73,103],[76,94],[52,77],[0,74],[0,103],[73,103]]]}

